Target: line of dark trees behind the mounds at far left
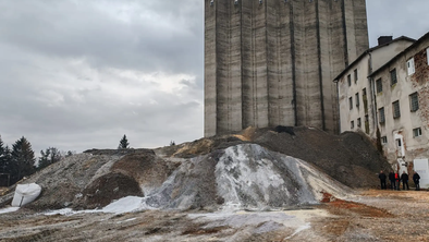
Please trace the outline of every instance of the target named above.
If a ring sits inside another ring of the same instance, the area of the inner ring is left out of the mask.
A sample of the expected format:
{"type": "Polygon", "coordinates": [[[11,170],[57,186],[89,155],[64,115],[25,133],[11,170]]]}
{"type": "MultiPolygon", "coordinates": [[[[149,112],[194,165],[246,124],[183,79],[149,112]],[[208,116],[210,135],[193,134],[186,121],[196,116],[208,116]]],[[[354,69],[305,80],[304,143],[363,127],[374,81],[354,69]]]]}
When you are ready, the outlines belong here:
{"type": "Polygon", "coordinates": [[[12,147],[5,145],[0,136],[0,186],[12,185],[24,177],[73,154],[71,150],[64,153],[49,147],[40,150],[40,157],[36,159],[32,144],[24,136],[13,143],[12,147]]]}

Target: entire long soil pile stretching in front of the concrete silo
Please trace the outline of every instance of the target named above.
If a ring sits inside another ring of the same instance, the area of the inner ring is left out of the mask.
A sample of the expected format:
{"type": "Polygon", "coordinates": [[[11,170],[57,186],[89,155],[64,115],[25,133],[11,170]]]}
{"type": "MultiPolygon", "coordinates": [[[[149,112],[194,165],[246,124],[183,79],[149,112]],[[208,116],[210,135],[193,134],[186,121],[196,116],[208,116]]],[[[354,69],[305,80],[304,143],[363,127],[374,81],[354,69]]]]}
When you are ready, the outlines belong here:
{"type": "Polygon", "coordinates": [[[25,183],[42,186],[33,209],[100,208],[124,196],[144,196],[142,207],[151,208],[265,209],[316,204],[323,193],[350,194],[340,182],[375,186],[376,173],[387,167],[356,133],[247,129],[155,150],[87,150],[25,183]]]}

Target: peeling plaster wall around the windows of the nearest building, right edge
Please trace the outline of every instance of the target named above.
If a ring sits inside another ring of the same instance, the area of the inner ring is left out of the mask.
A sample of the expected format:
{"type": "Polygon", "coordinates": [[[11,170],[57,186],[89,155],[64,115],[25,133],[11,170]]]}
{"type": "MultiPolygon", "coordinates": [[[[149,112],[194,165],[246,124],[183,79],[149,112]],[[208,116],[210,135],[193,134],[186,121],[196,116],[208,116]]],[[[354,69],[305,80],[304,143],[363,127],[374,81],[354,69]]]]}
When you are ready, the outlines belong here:
{"type": "Polygon", "coordinates": [[[404,55],[401,55],[388,66],[384,66],[373,78],[382,78],[383,93],[377,95],[378,107],[384,107],[385,123],[379,124],[381,136],[387,136],[383,145],[388,160],[394,165],[397,159],[395,134],[403,135],[405,161],[408,164],[416,158],[429,158],[429,64],[427,57],[429,37],[419,40],[404,55]],[[407,61],[414,58],[415,73],[408,75],[407,61]],[[396,69],[397,83],[391,85],[390,71],[396,69]],[[419,109],[410,110],[409,95],[418,93],[419,109]],[[393,119],[392,102],[399,100],[401,117],[393,119]],[[420,128],[421,136],[414,137],[413,129],[420,128]]]}

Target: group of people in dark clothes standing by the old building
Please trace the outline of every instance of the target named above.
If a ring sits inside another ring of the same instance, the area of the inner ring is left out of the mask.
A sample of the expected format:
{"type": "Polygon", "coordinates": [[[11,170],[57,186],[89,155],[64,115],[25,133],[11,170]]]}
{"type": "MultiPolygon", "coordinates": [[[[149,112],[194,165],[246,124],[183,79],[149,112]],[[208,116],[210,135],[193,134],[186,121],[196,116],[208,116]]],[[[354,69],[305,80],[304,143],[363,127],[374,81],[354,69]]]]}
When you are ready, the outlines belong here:
{"type": "MultiPolygon", "coordinates": [[[[385,181],[388,179],[388,176],[385,176],[385,173],[383,171],[380,171],[378,178],[380,179],[381,189],[387,190],[388,186],[387,186],[385,181]]],[[[405,171],[401,176],[399,174],[399,172],[393,173],[391,171],[389,173],[389,181],[390,181],[390,187],[392,190],[400,190],[401,181],[402,181],[402,189],[405,190],[405,186],[406,186],[406,190],[409,190],[408,174],[405,171]]],[[[419,191],[420,190],[420,176],[416,171],[414,171],[413,181],[414,181],[414,184],[416,184],[416,191],[419,191]]]]}

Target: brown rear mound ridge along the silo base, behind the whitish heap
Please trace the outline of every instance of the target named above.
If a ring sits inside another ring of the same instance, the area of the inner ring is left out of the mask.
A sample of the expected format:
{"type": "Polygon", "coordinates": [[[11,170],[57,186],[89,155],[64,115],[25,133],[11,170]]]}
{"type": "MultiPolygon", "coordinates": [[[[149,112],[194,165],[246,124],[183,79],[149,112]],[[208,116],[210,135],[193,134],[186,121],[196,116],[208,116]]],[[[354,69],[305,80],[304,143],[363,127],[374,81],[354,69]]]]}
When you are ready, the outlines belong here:
{"type": "MultiPolygon", "coordinates": [[[[391,166],[365,134],[341,135],[307,126],[247,128],[231,135],[220,135],[186,143],[170,152],[170,157],[196,157],[240,144],[258,144],[273,152],[308,161],[335,180],[351,187],[377,187],[380,170],[391,166]]],[[[171,147],[170,147],[171,149],[171,147]]]]}

